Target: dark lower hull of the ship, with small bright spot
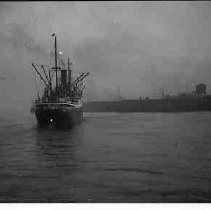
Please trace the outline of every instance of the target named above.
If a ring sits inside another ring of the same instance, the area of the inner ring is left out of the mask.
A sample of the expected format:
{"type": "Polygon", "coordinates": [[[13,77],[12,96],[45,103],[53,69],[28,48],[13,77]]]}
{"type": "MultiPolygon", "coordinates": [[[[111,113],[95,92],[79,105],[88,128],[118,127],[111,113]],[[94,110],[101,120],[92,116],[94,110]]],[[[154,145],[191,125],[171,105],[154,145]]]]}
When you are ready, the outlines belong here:
{"type": "Polygon", "coordinates": [[[72,127],[83,119],[83,109],[76,108],[74,110],[65,109],[37,109],[35,111],[37,123],[39,127],[55,126],[55,127],[72,127]]]}

